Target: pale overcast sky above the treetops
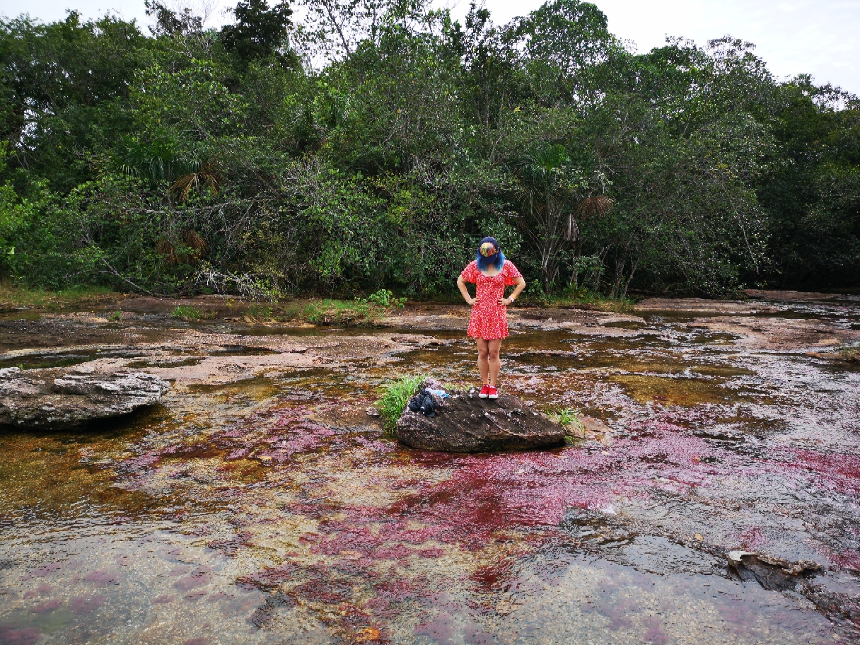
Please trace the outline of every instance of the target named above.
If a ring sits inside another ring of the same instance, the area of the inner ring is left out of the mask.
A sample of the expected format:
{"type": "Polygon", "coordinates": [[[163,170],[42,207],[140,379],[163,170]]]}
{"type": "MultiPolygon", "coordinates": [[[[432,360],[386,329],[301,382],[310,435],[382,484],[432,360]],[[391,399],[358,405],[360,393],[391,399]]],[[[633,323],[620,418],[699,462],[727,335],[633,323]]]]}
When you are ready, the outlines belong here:
{"type": "MultiPolygon", "coordinates": [[[[536,9],[543,0],[487,0],[494,22],[536,9]]],[[[181,0],[171,0],[177,3],[181,0]]],[[[230,0],[194,0],[212,9],[209,23],[226,20],[230,0]]],[[[777,77],[812,74],[860,94],[860,0],[593,0],[609,17],[613,34],[636,43],[639,52],[660,46],[667,36],[683,36],[699,45],[730,34],[749,40],[777,77]]],[[[232,4],[235,4],[233,2],[232,4]]],[[[453,13],[464,15],[469,0],[448,0],[453,13]]],[[[66,9],[86,17],[107,9],[147,24],[143,0],[0,0],[0,15],[27,11],[43,21],[63,18],[66,9]]]]}

